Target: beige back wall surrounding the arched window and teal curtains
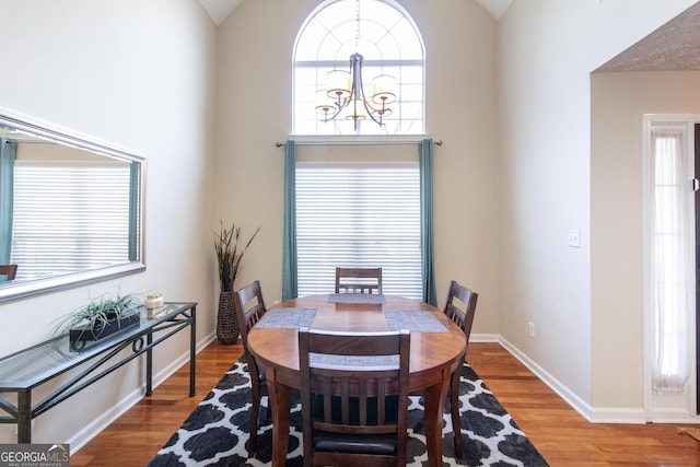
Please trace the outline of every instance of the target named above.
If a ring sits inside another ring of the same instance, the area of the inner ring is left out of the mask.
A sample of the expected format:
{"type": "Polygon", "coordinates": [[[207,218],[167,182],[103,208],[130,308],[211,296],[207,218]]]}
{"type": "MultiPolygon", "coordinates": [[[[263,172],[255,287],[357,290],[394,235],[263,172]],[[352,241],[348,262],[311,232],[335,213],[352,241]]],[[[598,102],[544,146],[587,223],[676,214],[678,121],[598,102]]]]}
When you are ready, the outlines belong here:
{"type": "MultiPolygon", "coordinates": [[[[294,39],[319,3],[244,1],[219,28],[217,212],[244,233],[261,226],[236,285],[259,279],[269,303],[281,290],[284,152],[275,142],[291,131],[294,39]]],[[[450,280],[467,284],[479,292],[474,332],[493,335],[500,327],[495,23],[472,0],[400,3],[425,45],[427,128],[444,141],[434,162],[439,302],[450,280]]],[[[418,156],[417,148],[407,151],[418,156]]]]}

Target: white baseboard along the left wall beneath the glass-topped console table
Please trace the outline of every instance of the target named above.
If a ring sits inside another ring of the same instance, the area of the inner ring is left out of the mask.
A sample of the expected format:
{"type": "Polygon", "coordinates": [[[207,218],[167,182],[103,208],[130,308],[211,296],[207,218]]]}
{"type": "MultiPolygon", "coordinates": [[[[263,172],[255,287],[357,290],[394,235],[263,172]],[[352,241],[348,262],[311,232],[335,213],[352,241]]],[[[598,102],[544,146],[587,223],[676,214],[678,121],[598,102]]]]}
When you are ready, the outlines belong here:
{"type": "MultiPolygon", "coordinates": [[[[195,352],[199,353],[205,347],[209,346],[217,338],[215,332],[211,332],[206,336],[202,340],[197,342],[195,352]]],[[[165,380],[172,376],[177,370],[179,370],[184,364],[189,362],[189,350],[183,352],[177,359],[175,359],[171,364],[165,366],[160,372],[153,374],[153,389],[160,386],[165,380]]],[[[145,394],[145,383],[129,393],[126,397],[124,397],[119,402],[117,402],[109,410],[103,412],[100,417],[92,421],[92,423],[84,427],[82,430],[73,434],[70,439],[67,440],[67,443],[70,444],[70,452],[74,454],[88,444],[93,437],[97,436],[104,429],[109,427],[115,420],[121,417],[125,412],[127,412],[131,407],[137,405],[141,399],[143,399],[145,394]]]]}

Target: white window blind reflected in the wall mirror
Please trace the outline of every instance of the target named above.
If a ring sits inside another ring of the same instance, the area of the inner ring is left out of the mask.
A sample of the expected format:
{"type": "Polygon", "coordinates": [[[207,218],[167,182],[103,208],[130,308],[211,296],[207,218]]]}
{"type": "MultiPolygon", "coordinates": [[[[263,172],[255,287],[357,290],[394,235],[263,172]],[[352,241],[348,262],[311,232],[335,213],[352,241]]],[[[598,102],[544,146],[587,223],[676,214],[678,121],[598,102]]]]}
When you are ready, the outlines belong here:
{"type": "Polygon", "coordinates": [[[128,260],[128,164],[16,161],[12,262],[18,279],[128,260]]]}

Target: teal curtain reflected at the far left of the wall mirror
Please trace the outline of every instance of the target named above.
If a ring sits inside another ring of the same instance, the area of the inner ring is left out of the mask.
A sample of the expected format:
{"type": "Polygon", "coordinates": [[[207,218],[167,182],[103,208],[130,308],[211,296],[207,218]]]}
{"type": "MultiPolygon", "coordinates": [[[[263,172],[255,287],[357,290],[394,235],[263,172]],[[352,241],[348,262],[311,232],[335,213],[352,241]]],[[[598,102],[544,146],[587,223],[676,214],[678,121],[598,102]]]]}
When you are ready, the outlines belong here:
{"type": "Polygon", "coordinates": [[[14,159],[18,143],[0,138],[0,264],[9,265],[12,253],[14,159]]]}

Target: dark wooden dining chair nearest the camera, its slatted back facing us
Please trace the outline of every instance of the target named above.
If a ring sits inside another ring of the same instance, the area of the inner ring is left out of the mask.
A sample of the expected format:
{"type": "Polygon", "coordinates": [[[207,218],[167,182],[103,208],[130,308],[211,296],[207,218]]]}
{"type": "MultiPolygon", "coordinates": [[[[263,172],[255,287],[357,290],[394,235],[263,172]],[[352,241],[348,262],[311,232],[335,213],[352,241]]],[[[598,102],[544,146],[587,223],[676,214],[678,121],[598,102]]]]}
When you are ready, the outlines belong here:
{"type": "Polygon", "coordinates": [[[304,466],[405,466],[410,334],[299,330],[304,466]]]}

